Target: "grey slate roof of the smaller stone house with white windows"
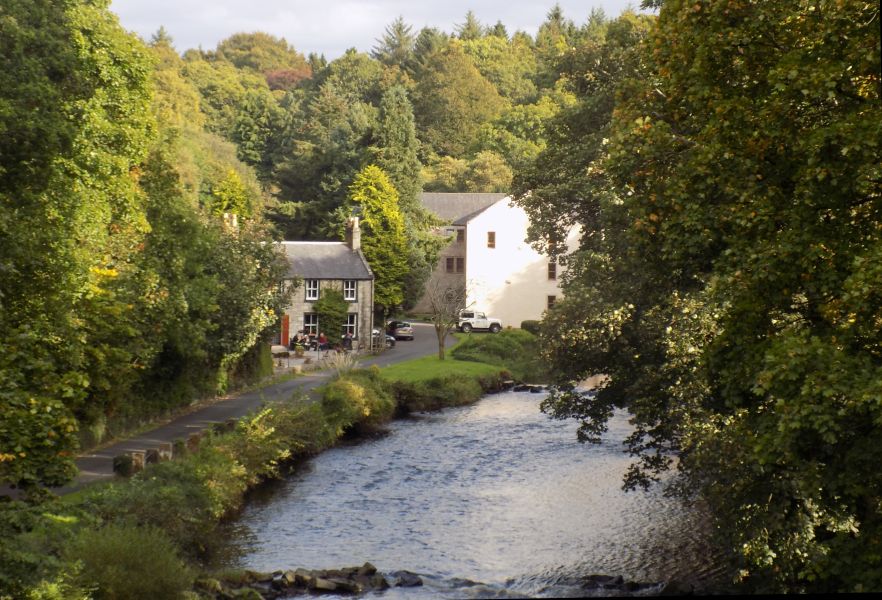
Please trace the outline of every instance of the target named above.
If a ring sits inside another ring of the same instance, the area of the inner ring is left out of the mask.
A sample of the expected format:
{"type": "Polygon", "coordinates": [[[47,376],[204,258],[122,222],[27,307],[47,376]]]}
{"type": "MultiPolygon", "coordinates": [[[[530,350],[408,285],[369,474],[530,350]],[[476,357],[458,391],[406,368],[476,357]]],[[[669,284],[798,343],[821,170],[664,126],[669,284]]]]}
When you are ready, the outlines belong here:
{"type": "Polygon", "coordinates": [[[344,242],[281,242],[288,257],[288,277],[304,279],[373,279],[361,251],[344,242]]]}

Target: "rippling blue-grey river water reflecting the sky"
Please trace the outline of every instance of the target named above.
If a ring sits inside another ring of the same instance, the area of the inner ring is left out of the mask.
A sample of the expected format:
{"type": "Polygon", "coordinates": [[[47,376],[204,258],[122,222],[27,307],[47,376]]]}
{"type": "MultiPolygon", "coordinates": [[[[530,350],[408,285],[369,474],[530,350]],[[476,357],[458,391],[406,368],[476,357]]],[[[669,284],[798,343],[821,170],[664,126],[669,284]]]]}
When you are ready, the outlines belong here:
{"type": "Polygon", "coordinates": [[[370,561],[426,583],[384,598],[580,597],[591,574],[712,588],[722,571],[699,511],[660,489],[622,491],[626,416],[602,444],[580,444],[542,397],[487,396],[315,457],[251,499],[239,566],[370,561]]]}

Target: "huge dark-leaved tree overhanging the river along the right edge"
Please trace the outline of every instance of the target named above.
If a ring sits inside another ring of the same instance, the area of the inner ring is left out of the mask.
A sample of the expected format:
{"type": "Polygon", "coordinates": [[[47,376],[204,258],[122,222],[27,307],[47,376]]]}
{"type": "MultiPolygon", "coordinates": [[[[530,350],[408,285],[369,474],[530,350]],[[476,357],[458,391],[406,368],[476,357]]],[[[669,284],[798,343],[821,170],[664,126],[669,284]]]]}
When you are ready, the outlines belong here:
{"type": "Polygon", "coordinates": [[[671,0],[647,37],[623,15],[571,57],[579,105],[518,183],[538,244],[583,228],[545,408],[586,440],[627,408],[626,484],[676,453],[750,590],[880,585],[876,18],[671,0]],[[567,392],[591,375],[596,400],[567,392]]]}

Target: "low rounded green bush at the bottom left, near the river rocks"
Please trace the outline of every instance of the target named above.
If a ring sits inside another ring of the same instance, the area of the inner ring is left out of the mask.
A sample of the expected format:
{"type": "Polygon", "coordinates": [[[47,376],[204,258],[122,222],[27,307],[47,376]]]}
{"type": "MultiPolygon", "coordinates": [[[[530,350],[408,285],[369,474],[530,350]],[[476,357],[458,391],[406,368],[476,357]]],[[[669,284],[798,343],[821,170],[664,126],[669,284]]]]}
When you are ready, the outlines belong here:
{"type": "Polygon", "coordinates": [[[76,581],[92,587],[96,600],[176,598],[193,582],[174,543],[155,527],[113,524],[82,529],[63,556],[70,563],[79,562],[76,581]]]}

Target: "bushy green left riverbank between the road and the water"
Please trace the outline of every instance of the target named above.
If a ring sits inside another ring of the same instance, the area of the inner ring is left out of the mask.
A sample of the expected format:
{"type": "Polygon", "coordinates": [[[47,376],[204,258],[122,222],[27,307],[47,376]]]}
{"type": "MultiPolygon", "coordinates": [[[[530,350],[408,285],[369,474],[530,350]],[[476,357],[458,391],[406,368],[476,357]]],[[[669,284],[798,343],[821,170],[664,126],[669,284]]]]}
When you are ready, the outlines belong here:
{"type": "Polygon", "coordinates": [[[36,506],[4,502],[0,598],[85,598],[89,590],[114,598],[198,594],[194,573],[249,489],[342,437],[413,411],[473,402],[508,377],[495,369],[492,377],[401,382],[378,368],[352,370],[328,384],[320,402],[301,396],[217,427],[181,448],[179,459],[130,480],[36,506]]]}

